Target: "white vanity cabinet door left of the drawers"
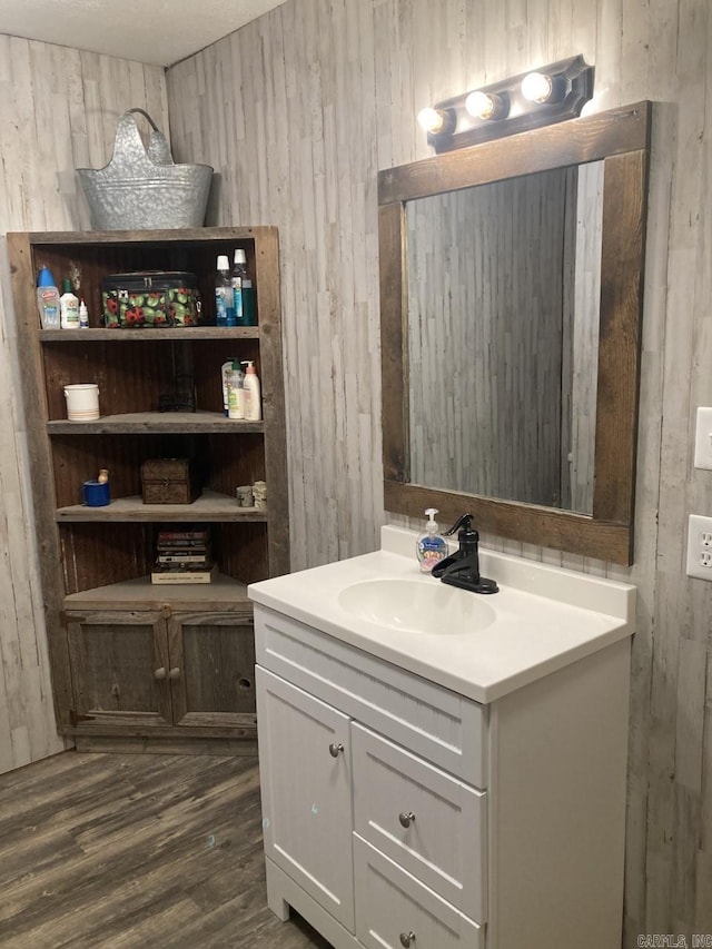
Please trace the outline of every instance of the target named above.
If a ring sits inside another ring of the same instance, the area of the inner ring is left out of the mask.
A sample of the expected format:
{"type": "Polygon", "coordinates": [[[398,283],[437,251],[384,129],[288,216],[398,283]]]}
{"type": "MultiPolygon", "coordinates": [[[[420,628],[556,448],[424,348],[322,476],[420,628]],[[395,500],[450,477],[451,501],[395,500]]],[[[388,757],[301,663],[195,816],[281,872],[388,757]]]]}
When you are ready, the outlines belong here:
{"type": "Polygon", "coordinates": [[[257,666],[265,853],[354,931],[349,719],[257,666]]]}

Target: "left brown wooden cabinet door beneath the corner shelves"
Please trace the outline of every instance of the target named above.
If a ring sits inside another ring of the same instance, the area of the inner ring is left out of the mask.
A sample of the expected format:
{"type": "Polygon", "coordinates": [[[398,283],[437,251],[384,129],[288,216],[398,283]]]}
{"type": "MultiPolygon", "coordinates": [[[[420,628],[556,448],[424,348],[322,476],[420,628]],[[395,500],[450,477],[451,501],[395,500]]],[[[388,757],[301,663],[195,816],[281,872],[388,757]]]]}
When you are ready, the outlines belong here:
{"type": "Polygon", "coordinates": [[[154,611],[67,613],[78,729],[170,724],[168,642],[154,611]]]}

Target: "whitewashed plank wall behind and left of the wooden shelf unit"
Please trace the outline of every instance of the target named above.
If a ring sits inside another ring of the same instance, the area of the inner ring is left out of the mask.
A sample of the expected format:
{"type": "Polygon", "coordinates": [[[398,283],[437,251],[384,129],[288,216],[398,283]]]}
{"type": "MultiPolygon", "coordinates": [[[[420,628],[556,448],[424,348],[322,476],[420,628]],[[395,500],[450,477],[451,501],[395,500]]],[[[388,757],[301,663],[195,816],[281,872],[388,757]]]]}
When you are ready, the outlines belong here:
{"type": "MultiPolygon", "coordinates": [[[[89,226],[76,168],[111,157],[118,117],[140,106],[168,130],[156,67],[0,36],[0,230],[89,226]]],[[[26,415],[10,277],[0,246],[0,772],[61,751],[49,682],[26,415]]],[[[57,278],[58,275],[56,275],[57,278]]],[[[32,406],[27,406],[31,419],[32,406]]]]}

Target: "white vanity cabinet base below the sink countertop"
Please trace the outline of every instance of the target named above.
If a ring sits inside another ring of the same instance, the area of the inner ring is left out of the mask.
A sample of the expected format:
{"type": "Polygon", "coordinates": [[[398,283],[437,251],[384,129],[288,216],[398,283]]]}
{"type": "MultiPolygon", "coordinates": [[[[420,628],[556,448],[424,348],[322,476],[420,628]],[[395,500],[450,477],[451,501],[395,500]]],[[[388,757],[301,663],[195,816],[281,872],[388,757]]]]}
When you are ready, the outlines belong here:
{"type": "Polygon", "coordinates": [[[259,603],[255,631],[281,919],[336,949],[619,949],[629,639],[481,704],[259,603]]]}

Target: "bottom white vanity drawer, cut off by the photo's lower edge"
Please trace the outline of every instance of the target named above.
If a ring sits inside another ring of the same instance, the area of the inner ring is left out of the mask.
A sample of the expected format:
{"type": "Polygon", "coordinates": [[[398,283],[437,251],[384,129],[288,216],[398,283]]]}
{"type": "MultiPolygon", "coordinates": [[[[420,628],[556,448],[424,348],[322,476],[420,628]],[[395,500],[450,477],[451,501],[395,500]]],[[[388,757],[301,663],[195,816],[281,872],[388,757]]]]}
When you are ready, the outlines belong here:
{"type": "Polygon", "coordinates": [[[484,949],[477,926],[358,834],[356,938],[367,949],[484,949]]]}

